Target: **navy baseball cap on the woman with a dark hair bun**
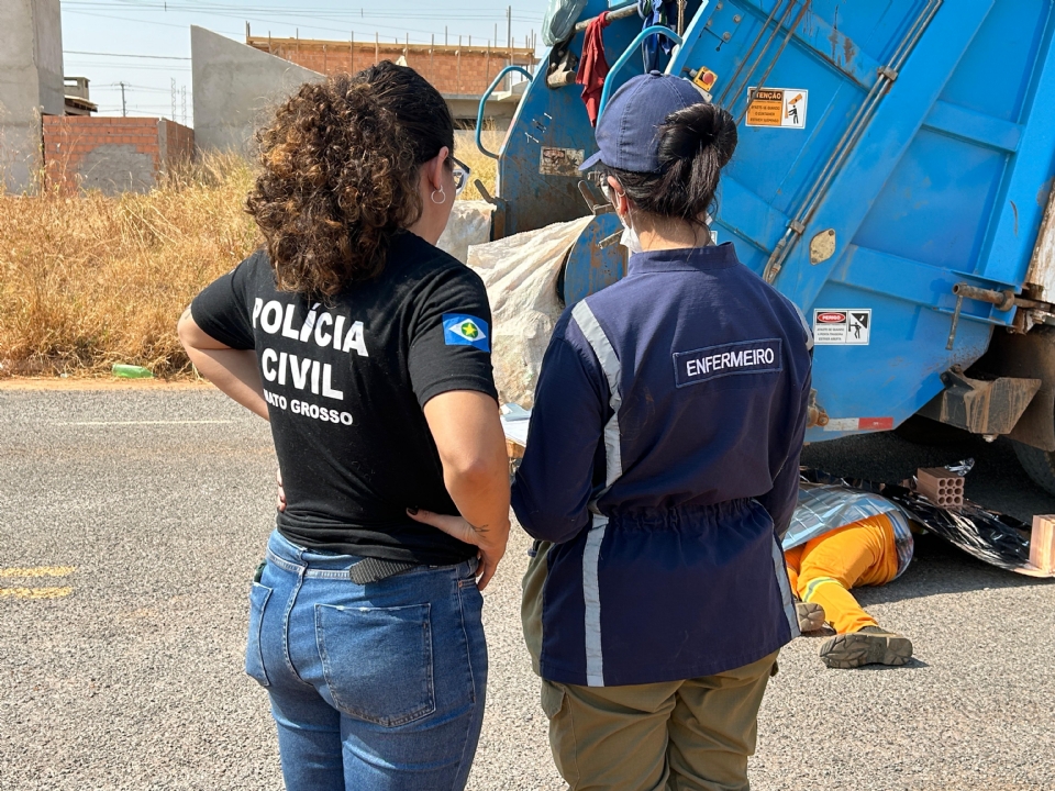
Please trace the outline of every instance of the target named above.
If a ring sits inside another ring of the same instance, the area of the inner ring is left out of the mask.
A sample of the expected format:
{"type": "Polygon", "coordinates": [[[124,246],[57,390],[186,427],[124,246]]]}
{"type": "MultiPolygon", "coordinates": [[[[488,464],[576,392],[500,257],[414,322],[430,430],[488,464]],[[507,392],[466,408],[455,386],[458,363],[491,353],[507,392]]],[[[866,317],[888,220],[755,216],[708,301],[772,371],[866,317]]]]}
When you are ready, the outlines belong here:
{"type": "Polygon", "coordinates": [[[667,115],[703,101],[689,80],[652,71],[632,77],[609,99],[597,121],[600,151],[579,170],[597,163],[632,172],[659,172],[659,137],[656,129],[667,115]]]}

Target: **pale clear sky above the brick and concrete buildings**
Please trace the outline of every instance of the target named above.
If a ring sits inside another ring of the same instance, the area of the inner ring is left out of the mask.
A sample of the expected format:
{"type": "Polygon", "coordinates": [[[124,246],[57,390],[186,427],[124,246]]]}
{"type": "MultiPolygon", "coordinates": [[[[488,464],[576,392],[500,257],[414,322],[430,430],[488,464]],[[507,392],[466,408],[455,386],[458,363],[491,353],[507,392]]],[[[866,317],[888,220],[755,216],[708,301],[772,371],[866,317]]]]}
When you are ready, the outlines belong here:
{"type": "MultiPolygon", "coordinates": [[[[2,2],[3,0],[0,0],[2,2]]],[[[547,0],[62,0],[63,49],[67,77],[91,80],[100,115],[121,114],[125,82],[129,115],[158,115],[193,124],[190,25],[245,41],[254,35],[382,38],[429,43],[444,32],[452,44],[506,44],[506,9],[512,7],[513,42],[542,26],[547,0]],[[176,110],[173,111],[173,85],[176,110]]],[[[542,46],[541,35],[538,45],[542,46]]]]}

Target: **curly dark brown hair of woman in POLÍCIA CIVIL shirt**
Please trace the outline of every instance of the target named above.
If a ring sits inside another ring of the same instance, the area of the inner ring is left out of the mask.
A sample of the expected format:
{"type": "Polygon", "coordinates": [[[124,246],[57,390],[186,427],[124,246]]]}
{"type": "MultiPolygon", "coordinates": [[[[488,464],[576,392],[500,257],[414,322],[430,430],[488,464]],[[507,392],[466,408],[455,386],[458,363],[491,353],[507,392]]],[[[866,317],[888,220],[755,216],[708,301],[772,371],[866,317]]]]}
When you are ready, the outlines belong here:
{"type": "Polygon", "coordinates": [[[332,297],[385,269],[392,237],[421,216],[419,168],[454,149],[454,123],[421,75],[384,60],[301,86],[256,138],[246,211],[278,287],[332,297]]]}

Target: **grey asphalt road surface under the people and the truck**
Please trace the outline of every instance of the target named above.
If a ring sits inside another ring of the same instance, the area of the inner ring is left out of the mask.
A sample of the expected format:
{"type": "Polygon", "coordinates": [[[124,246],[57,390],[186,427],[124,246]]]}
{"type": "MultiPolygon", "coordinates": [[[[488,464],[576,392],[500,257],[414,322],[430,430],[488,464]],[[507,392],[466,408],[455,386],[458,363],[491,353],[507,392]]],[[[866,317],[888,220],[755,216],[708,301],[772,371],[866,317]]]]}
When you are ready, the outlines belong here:
{"type": "MultiPolygon", "coordinates": [[[[875,480],[964,456],[978,459],[968,497],[1055,512],[1000,442],[807,450],[875,480]]],[[[211,391],[0,390],[2,791],[281,788],[266,694],[241,669],[274,469],[266,424],[211,391]]],[[[518,533],[486,593],[471,789],[562,788],[520,637],[525,547],[518,533]]],[[[760,714],[756,791],[1055,788],[1055,583],[924,537],[903,577],[859,598],[917,659],[828,670],[819,639],[788,646],[760,714]]]]}

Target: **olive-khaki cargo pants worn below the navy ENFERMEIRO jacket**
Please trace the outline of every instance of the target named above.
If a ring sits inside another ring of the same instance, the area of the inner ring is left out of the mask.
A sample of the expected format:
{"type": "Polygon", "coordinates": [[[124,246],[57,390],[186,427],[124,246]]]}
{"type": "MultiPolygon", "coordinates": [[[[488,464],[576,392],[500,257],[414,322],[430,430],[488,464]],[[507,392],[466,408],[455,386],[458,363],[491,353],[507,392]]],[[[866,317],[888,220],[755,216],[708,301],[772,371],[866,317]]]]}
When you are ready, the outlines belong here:
{"type": "Polygon", "coordinates": [[[579,687],[543,680],[549,745],[571,791],[746,791],[770,654],[666,683],[579,687]]]}

